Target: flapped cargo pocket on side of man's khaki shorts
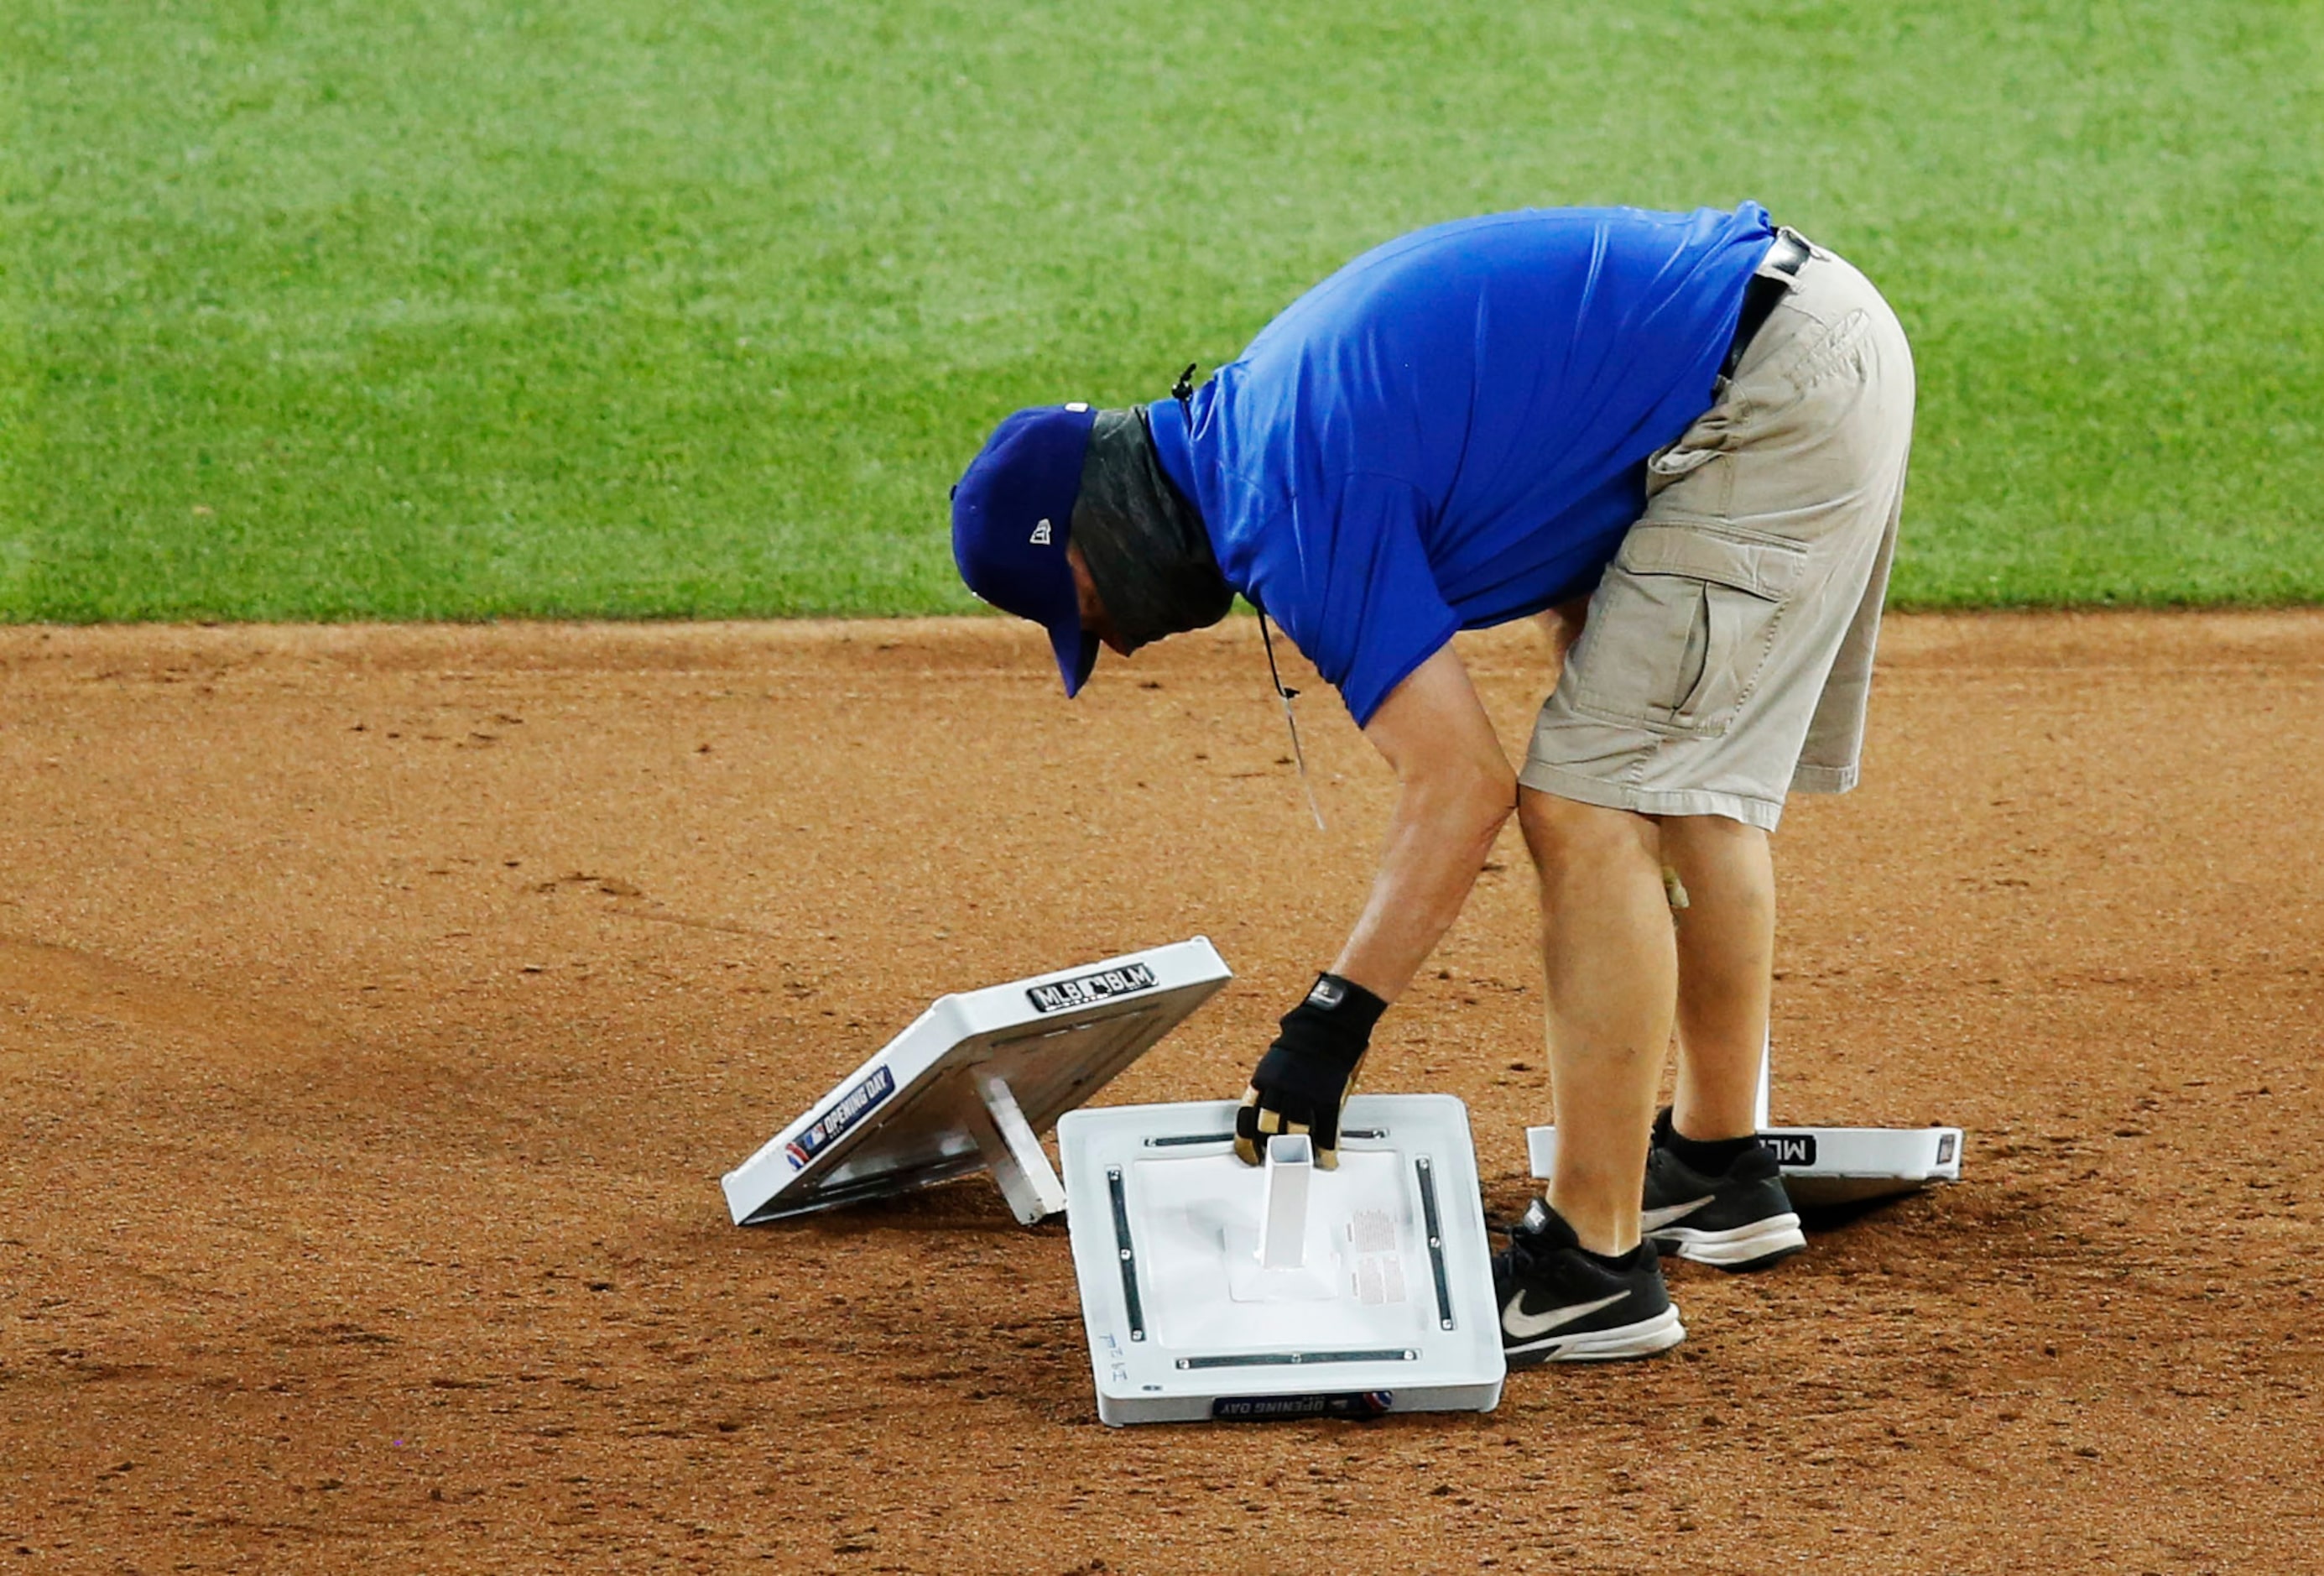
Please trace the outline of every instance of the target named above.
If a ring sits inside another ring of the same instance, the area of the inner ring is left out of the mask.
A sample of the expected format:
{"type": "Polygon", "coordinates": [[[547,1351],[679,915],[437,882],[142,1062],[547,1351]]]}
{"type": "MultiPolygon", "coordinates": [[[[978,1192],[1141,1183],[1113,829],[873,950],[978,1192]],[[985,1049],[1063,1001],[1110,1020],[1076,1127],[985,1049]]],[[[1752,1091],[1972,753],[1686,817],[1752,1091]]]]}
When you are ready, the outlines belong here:
{"type": "Polygon", "coordinates": [[[1717,737],[1759,683],[1808,549],[1706,525],[1634,525],[1590,604],[1573,709],[1717,737]]]}

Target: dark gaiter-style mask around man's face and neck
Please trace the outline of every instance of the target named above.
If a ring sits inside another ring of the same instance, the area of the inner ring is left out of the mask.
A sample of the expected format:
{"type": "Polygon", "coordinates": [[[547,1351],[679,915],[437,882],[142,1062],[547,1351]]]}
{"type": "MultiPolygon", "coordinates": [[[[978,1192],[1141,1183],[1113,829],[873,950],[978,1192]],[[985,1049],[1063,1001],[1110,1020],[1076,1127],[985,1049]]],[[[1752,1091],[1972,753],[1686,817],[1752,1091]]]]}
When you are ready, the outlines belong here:
{"type": "Polygon", "coordinates": [[[1069,530],[1132,651],[1213,625],[1234,607],[1211,532],[1162,472],[1143,409],[1097,414],[1069,530]]]}

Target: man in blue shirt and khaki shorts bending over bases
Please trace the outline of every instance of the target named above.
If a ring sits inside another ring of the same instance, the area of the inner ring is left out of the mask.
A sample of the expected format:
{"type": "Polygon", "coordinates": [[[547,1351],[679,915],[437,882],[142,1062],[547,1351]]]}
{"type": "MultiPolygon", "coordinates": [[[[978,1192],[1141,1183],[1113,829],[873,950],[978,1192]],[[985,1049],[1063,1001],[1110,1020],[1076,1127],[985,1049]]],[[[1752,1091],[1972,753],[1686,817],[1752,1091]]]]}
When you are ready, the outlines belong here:
{"type": "Polygon", "coordinates": [[[1657,1241],[1727,1269],[1803,1246],[1752,1120],[1769,832],[1789,790],[1857,781],[1910,430],[1887,302],[1759,205],[1543,209],[1367,251],[1197,391],[1018,411],[953,490],[964,581],[1048,630],[1067,695],[1099,646],[1243,593],[1397,774],[1243,1160],[1308,1132],[1334,1162],[1373,1023],[1515,811],[1559,1141],[1494,1258],[1513,1364],[1676,1346],[1657,1241]],[[1511,774],[1452,632],[1527,616],[1562,667],[1511,774]]]}

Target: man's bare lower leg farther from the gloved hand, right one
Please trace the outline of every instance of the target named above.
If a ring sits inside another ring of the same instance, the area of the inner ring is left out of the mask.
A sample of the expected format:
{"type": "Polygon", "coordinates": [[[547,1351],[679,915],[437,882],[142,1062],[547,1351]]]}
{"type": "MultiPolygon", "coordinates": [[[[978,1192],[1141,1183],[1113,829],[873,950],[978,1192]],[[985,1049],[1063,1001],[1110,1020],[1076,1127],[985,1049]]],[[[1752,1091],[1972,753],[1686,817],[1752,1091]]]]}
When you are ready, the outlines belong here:
{"type": "MultiPolygon", "coordinates": [[[[1664,816],[1678,872],[1678,1095],[1671,1125],[1713,1144],[1755,1132],[1776,962],[1776,867],[1766,832],[1724,816],[1664,816]]],[[[1562,1144],[1564,1139],[1559,1139],[1562,1144]]]]}

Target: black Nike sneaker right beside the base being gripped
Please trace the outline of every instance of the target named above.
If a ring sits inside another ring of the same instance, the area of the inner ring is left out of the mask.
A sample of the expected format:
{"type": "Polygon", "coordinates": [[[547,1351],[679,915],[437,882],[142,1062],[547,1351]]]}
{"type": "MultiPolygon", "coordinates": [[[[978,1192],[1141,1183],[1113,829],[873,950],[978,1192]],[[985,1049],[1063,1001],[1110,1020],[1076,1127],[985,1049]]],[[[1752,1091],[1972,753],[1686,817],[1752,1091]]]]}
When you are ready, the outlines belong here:
{"type": "Polygon", "coordinates": [[[1508,1367],[1645,1357],[1687,1339],[1662,1258],[1641,1241],[1622,1258],[1583,1251],[1557,1211],[1541,1199],[1492,1255],[1492,1295],[1501,1304],[1501,1353],[1508,1367]]]}

